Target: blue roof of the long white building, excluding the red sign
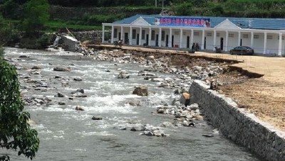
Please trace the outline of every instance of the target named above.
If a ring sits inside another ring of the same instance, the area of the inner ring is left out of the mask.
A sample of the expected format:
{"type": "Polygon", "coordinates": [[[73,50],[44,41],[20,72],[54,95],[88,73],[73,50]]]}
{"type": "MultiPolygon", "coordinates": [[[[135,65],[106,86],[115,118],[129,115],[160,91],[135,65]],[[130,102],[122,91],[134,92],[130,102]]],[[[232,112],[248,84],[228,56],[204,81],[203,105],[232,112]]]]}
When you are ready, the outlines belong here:
{"type": "Polygon", "coordinates": [[[135,15],[129,18],[125,18],[114,23],[130,24],[136,19],[142,17],[147,23],[155,26],[155,18],[157,17],[180,17],[180,18],[210,18],[211,27],[214,28],[222,21],[228,19],[240,28],[252,28],[252,29],[268,29],[268,30],[285,30],[284,18],[227,18],[227,17],[207,17],[207,16],[160,16],[160,15],[135,15]]]}

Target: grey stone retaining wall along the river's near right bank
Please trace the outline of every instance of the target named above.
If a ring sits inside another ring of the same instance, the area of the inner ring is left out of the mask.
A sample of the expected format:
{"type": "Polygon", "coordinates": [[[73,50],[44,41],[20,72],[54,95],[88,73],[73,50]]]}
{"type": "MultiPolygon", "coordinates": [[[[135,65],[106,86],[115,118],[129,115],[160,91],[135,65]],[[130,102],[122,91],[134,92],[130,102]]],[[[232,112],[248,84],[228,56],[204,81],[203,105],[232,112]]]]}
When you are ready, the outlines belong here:
{"type": "Polygon", "coordinates": [[[269,161],[285,160],[285,133],[261,121],[230,98],[210,90],[201,81],[190,87],[191,104],[199,104],[202,113],[227,138],[269,161]]]}

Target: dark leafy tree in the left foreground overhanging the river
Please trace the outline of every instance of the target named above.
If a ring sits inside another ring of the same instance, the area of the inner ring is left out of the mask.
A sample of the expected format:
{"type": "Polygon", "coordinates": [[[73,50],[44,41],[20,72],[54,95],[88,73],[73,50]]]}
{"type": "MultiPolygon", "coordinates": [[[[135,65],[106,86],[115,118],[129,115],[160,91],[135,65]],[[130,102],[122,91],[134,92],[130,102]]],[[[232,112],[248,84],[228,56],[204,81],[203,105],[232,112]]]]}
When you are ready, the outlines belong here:
{"type": "MultiPolygon", "coordinates": [[[[30,114],[24,112],[16,68],[0,58],[0,148],[18,151],[31,160],[38,151],[38,133],[30,129],[30,114]]],[[[0,160],[9,160],[0,156],[0,160]]]]}

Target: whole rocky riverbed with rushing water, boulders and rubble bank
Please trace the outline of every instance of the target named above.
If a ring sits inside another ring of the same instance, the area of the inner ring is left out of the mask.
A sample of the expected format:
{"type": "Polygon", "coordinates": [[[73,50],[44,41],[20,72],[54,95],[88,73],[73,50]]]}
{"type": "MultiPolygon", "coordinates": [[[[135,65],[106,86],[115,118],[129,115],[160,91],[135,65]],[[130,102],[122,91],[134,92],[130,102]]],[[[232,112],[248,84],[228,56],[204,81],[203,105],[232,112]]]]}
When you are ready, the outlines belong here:
{"type": "Polygon", "coordinates": [[[185,67],[177,57],[122,50],[6,53],[40,135],[36,160],[257,160],[188,101],[192,80],[213,84],[226,63],[185,67]]]}

